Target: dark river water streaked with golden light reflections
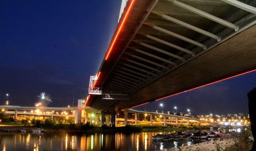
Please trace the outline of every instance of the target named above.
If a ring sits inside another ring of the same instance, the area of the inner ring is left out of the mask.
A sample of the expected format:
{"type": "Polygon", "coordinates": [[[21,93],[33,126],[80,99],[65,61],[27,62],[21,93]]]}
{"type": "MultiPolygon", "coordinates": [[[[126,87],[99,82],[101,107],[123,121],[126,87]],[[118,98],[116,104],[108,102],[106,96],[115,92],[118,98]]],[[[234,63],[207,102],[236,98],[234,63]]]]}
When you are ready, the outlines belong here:
{"type": "Polygon", "coordinates": [[[158,133],[92,135],[0,133],[0,150],[162,150],[204,141],[153,142],[152,136],[158,133]]]}

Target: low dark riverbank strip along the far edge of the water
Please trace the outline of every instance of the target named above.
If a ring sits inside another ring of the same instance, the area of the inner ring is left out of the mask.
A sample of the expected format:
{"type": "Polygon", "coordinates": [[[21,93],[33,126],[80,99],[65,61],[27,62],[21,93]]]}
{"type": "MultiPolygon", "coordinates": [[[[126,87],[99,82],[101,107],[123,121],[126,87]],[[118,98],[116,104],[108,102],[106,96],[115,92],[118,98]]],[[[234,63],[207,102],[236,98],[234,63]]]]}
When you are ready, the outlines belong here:
{"type": "Polygon", "coordinates": [[[192,131],[192,130],[205,130],[208,127],[173,127],[173,126],[136,126],[136,125],[126,125],[125,127],[95,127],[89,124],[54,124],[54,125],[43,125],[42,127],[31,126],[20,126],[13,125],[8,127],[0,127],[2,132],[20,132],[20,130],[25,130],[30,132],[37,128],[43,128],[46,133],[58,133],[58,132],[68,132],[68,133],[81,133],[81,134],[93,134],[93,133],[138,133],[138,132],[171,132],[171,131],[192,131]]]}

